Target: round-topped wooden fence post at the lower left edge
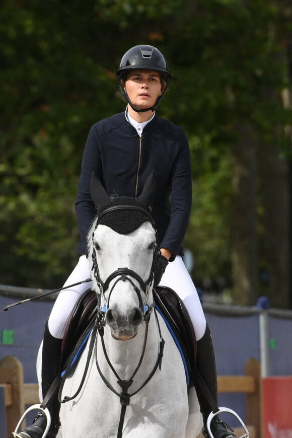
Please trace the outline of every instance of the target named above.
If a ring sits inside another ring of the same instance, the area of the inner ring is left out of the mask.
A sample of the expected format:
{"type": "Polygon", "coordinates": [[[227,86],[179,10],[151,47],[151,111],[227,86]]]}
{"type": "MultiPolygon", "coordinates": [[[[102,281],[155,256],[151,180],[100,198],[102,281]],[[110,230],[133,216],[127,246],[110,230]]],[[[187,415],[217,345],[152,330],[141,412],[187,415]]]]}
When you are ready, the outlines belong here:
{"type": "Polygon", "coordinates": [[[10,384],[12,388],[13,403],[6,410],[7,433],[11,436],[25,410],[23,368],[16,357],[6,356],[0,361],[0,384],[10,384]]]}

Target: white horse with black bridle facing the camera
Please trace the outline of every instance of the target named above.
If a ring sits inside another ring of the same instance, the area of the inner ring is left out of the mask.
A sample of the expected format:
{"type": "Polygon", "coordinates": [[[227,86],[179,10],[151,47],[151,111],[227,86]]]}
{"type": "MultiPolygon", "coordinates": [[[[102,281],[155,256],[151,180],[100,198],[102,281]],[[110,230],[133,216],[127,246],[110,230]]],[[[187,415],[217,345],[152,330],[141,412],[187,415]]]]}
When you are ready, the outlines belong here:
{"type": "MultiPolygon", "coordinates": [[[[99,193],[94,201],[99,206],[109,201],[102,190],[95,186],[99,193]]],[[[149,205],[145,190],[139,202],[149,205]]],[[[101,331],[94,334],[95,347],[81,391],[61,404],[58,437],[195,438],[202,428],[196,393],[193,387],[188,393],[181,355],[164,319],[154,310],[156,233],[147,210],[142,210],[135,205],[109,207],[90,230],[89,260],[102,306],[101,331]],[[107,225],[107,218],[126,210],[127,217],[137,212],[141,225],[121,234],[107,225]]],[[[65,380],[62,397],[78,390],[89,348],[90,341],[65,380]]]]}

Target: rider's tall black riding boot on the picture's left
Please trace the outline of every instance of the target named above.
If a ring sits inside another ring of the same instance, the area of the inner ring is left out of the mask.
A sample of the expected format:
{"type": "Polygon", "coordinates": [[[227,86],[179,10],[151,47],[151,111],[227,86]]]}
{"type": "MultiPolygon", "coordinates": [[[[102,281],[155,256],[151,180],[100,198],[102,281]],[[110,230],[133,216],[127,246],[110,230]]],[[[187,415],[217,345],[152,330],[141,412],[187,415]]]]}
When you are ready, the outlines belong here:
{"type": "MultiPolygon", "coordinates": [[[[48,328],[48,322],[46,322],[44,339],[43,339],[43,351],[42,351],[42,394],[45,397],[49,390],[53,380],[57,376],[60,366],[61,356],[61,343],[62,339],[53,337],[48,328]]],[[[60,427],[59,411],[60,403],[58,401],[58,393],[53,396],[51,402],[47,405],[47,408],[51,414],[51,425],[47,438],[55,438],[60,427]]],[[[19,436],[22,438],[41,438],[47,425],[47,419],[44,413],[40,412],[34,419],[31,426],[25,427],[19,436]]]]}

